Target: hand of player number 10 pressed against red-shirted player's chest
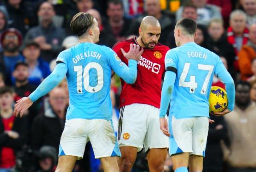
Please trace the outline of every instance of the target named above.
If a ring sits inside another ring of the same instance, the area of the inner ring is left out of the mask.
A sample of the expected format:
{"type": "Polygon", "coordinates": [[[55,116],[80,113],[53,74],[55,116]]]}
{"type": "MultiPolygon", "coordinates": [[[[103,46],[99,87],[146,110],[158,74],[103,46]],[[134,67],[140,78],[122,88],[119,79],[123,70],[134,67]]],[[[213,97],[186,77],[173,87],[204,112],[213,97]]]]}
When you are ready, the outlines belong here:
{"type": "Polygon", "coordinates": [[[136,61],[139,61],[141,54],[143,53],[144,49],[141,48],[140,50],[140,46],[136,45],[136,44],[130,44],[130,50],[129,52],[125,52],[125,50],[123,50],[121,48],[121,52],[122,54],[125,56],[125,58],[127,58],[128,60],[133,59],[136,61]]]}

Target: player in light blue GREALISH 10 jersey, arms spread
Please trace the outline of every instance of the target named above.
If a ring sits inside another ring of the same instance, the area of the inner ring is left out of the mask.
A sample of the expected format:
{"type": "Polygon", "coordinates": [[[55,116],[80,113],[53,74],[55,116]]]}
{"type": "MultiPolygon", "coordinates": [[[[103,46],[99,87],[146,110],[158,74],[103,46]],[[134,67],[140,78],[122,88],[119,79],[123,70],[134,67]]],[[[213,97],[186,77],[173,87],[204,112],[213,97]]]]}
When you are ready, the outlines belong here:
{"type": "Polygon", "coordinates": [[[113,131],[110,98],[111,70],[127,83],[137,77],[137,61],[143,53],[131,44],[129,52],[123,52],[129,60],[123,63],[112,49],[99,46],[99,27],[88,13],[76,14],[70,27],[79,37],[79,44],[61,52],[56,67],[29,97],[23,97],[15,105],[14,115],[23,115],[39,97],[58,85],[64,76],[70,95],[65,128],[61,135],[57,172],[71,172],[77,159],[83,158],[90,140],[95,158],[100,158],[105,172],[119,171],[116,156],[121,156],[113,131]]]}

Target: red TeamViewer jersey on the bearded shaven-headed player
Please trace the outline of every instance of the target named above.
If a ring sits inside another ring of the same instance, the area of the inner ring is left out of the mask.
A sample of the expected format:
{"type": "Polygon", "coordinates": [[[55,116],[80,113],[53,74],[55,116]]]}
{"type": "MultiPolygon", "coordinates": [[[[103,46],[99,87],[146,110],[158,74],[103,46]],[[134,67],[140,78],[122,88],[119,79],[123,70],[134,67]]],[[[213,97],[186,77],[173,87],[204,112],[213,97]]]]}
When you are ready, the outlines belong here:
{"type": "MultiPolygon", "coordinates": [[[[113,50],[120,59],[128,65],[128,60],[123,56],[121,48],[128,52],[130,44],[137,44],[136,38],[116,43],[113,50]]],[[[148,104],[160,108],[161,82],[165,71],[164,59],[168,46],[160,43],[154,49],[144,48],[144,52],[138,61],[137,80],[134,84],[127,84],[121,79],[122,92],[120,95],[120,107],[132,103],[148,104]]]]}

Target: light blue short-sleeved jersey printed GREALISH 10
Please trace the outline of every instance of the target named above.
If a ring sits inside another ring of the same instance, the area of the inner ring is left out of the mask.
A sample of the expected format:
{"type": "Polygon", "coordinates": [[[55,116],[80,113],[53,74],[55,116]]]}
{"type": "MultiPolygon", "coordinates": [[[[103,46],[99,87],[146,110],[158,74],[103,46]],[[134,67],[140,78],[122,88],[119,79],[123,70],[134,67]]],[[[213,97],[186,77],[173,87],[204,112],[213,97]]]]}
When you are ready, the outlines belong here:
{"type": "MultiPolygon", "coordinates": [[[[133,61],[137,69],[137,62],[133,61]]],[[[79,43],[61,52],[56,62],[68,66],[70,106],[66,119],[111,120],[111,70],[122,76],[128,69],[116,53],[106,46],[79,43]]]]}

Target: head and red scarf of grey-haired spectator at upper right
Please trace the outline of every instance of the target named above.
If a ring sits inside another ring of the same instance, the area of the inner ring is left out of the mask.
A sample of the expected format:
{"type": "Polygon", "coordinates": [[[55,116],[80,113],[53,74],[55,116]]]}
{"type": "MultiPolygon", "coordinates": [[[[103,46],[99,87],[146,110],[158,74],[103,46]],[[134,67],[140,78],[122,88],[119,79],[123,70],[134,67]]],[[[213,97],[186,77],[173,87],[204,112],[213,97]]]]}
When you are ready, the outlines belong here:
{"type": "Polygon", "coordinates": [[[234,68],[238,67],[238,53],[249,39],[249,30],[246,28],[246,14],[244,11],[235,10],[230,14],[230,27],[227,29],[227,41],[235,48],[236,59],[234,68]]]}

